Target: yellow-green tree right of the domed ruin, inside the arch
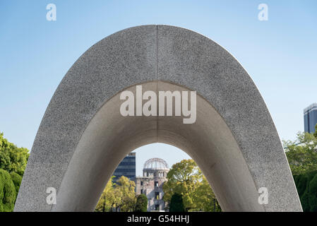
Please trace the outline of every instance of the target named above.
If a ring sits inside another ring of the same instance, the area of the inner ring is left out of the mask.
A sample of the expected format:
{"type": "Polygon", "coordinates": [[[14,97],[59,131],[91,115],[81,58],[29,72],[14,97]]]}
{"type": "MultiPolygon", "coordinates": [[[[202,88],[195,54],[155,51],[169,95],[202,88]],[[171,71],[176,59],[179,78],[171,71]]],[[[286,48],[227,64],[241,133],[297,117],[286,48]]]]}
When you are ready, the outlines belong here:
{"type": "Polygon", "coordinates": [[[181,195],[186,211],[220,211],[215,194],[193,160],[181,160],[167,173],[163,199],[171,203],[174,194],[181,195]]]}

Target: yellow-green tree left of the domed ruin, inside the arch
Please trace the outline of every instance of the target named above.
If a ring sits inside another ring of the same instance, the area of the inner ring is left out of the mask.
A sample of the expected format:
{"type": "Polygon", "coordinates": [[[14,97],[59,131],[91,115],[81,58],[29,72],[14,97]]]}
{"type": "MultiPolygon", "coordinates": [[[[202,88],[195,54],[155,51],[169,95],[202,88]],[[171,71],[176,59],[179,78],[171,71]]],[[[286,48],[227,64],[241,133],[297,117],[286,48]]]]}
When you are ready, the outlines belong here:
{"type": "MultiPolygon", "coordinates": [[[[112,177],[113,179],[113,177],[112,177]]],[[[121,212],[131,212],[136,206],[136,184],[122,176],[116,183],[109,180],[95,208],[96,212],[111,211],[120,208],[121,212]]]]}

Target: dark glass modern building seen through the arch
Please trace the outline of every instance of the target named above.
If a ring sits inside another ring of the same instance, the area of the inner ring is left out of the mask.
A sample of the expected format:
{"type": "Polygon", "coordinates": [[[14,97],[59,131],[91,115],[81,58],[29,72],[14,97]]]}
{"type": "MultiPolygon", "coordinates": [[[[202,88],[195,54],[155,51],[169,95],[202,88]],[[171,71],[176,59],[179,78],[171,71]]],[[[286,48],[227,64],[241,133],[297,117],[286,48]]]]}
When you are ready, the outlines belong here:
{"type": "Polygon", "coordinates": [[[114,182],[121,176],[134,179],[136,177],[136,153],[126,155],[114,170],[113,176],[115,177],[114,182]]]}

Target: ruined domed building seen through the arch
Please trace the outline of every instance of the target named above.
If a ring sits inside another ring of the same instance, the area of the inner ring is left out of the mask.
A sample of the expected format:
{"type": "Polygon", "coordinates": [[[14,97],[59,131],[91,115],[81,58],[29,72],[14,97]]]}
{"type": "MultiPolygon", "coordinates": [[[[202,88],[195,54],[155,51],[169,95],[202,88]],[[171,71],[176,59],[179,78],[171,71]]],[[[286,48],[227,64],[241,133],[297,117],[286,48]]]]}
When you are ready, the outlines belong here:
{"type": "Polygon", "coordinates": [[[169,167],[161,158],[151,158],[143,166],[143,177],[136,177],[136,195],[148,197],[148,212],[164,211],[163,184],[167,181],[169,167]]]}

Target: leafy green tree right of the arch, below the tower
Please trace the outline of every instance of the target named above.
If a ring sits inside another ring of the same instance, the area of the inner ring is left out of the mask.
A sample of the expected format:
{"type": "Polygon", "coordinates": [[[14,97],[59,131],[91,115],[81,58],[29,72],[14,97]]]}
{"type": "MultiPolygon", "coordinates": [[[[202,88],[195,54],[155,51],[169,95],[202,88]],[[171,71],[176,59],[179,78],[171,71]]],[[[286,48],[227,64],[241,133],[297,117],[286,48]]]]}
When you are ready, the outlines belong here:
{"type": "Polygon", "coordinates": [[[317,138],[311,133],[297,133],[295,141],[283,141],[293,175],[317,169],[317,138]]]}

